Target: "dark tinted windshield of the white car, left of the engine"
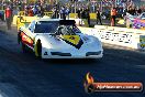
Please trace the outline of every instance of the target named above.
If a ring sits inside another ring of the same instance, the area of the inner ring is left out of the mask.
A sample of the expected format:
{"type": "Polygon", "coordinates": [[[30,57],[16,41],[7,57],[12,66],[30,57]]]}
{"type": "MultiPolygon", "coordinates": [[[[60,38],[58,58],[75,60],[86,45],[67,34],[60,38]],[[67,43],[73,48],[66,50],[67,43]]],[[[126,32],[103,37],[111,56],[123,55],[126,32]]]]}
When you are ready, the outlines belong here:
{"type": "Polygon", "coordinates": [[[58,21],[38,21],[34,33],[54,33],[58,28],[58,21]]]}

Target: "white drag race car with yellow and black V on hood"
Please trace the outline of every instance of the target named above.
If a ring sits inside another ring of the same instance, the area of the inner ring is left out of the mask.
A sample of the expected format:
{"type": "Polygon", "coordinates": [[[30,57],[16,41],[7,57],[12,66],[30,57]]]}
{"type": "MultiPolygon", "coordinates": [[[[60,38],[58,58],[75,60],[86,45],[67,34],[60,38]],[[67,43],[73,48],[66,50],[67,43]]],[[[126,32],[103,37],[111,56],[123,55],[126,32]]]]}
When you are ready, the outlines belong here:
{"type": "Polygon", "coordinates": [[[75,20],[38,19],[18,32],[22,51],[31,48],[41,58],[101,58],[101,42],[82,34],[75,20]]]}

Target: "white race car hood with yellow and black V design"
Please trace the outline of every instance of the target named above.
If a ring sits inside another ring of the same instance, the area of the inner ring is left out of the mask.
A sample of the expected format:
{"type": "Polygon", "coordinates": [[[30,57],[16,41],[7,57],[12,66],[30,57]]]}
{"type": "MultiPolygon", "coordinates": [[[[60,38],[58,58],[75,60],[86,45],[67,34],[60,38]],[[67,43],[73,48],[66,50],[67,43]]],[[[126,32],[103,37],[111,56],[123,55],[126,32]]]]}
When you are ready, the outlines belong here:
{"type": "Polygon", "coordinates": [[[98,42],[92,36],[85,34],[77,35],[41,35],[42,45],[44,47],[55,50],[79,50],[83,45],[96,45],[98,42]]]}

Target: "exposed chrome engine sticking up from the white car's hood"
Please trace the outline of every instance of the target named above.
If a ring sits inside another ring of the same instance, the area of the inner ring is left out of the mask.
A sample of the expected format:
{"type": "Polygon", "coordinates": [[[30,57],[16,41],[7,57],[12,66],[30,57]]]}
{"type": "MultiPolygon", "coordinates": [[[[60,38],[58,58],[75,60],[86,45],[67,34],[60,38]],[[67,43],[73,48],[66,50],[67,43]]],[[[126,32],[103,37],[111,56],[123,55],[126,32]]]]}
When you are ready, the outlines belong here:
{"type": "Polygon", "coordinates": [[[57,34],[76,35],[76,33],[80,33],[79,29],[76,25],[60,25],[58,28],[57,34]]]}

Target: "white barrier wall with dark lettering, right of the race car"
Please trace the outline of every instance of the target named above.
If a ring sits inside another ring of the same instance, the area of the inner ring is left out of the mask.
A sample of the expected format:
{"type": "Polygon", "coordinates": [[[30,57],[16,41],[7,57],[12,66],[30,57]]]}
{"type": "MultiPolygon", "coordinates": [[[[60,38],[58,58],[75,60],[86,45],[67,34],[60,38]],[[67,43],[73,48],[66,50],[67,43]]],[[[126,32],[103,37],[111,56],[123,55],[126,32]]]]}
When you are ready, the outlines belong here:
{"type": "Polygon", "coordinates": [[[104,25],[96,25],[94,28],[78,28],[82,31],[82,33],[97,36],[104,43],[145,50],[145,31],[143,30],[104,25]]]}

